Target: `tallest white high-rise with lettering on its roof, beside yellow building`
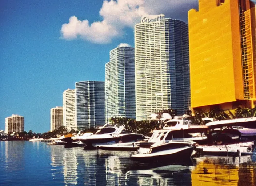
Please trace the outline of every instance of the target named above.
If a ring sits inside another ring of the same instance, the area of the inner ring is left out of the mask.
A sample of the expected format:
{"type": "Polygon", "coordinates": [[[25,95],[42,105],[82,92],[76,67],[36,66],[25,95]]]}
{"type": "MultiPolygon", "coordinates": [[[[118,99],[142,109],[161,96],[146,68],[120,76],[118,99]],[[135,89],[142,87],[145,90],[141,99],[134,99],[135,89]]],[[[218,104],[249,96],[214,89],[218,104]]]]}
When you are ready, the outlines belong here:
{"type": "Polygon", "coordinates": [[[135,25],[136,119],[190,105],[188,25],[163,14],[135,25]]]}

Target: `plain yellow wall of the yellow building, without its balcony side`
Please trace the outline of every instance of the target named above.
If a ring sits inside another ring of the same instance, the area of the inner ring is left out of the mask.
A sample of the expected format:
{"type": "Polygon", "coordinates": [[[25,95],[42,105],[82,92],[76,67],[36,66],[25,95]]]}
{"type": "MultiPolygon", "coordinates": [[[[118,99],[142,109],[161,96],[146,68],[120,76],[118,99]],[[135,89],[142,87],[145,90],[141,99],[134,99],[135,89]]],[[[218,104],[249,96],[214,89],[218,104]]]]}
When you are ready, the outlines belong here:
{"type": "Polygon", "coordinates": [[[192,108],[243,98],[238,1],[216,2],[188,11],[192,108]]]}

